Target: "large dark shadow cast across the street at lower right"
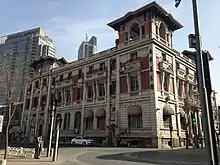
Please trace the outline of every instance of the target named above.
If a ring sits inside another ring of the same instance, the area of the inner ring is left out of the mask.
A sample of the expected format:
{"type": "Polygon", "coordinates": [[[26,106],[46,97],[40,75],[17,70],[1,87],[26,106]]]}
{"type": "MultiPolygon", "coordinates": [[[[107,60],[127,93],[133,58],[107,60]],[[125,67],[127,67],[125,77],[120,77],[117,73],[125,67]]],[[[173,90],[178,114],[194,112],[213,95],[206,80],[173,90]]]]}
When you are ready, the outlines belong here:
{"type": "MultiPolygon", "coordinates": [[[[130,152],[122,154],[102,155],[98,159],[119,160],[155,165],[207,165],[205,149],[175,149],[130,152]]],[[[220,160],[220,157],[219,157],[220,160]]]]}

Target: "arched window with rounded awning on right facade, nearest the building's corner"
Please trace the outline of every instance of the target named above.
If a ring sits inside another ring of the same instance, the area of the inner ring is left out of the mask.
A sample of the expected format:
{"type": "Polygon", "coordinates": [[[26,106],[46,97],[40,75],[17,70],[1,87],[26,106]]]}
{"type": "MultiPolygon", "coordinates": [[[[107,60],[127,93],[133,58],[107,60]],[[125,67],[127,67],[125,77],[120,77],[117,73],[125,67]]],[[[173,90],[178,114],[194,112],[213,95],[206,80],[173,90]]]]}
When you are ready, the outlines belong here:
{"type": "Polygon", "coordinates": [[[169,128],[172,126],[172,115],[174,115],[173,109],[165,105],[163,107],[163,122],[164,122],[164,128],[169,128]]]}

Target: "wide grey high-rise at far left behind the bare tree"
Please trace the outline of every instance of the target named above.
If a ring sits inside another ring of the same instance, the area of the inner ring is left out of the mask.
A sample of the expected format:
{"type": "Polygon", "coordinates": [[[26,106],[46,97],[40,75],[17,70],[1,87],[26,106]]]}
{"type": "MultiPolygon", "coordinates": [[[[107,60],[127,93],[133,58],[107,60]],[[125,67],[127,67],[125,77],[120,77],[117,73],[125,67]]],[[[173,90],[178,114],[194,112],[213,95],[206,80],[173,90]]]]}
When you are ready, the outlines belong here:
{"type": "MultiPolygon", "coordinates": [[[[40,56],[55,57],[53,41],[46,36],[42,28],[1,37],[0,60],[7,63],[7,73],[10,74],[10,77],[16,78],[13,90],[15,100],[22,100],[24,85],[27,79],[33,76],[33,69],[29,65],[40,56]]],[[[1,77],[1,79],[4,79],[4,77],[1,77]]],[[[6,88],[5,82],[2,82],[0,83],[0,105],[5,104],[5,101],[6,88]]]]}

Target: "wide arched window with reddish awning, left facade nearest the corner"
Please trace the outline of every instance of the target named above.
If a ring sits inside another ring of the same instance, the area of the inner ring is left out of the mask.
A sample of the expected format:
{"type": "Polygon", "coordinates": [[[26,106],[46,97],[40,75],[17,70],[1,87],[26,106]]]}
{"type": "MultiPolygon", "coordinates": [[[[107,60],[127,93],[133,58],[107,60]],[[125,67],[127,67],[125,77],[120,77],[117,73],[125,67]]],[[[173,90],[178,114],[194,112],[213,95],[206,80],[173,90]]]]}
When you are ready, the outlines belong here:
{"type": "Polygon", "coordinates": [[[132,105],[128,108],[128,127],[142,128],[142,109],[140,106],[132,105]]]}

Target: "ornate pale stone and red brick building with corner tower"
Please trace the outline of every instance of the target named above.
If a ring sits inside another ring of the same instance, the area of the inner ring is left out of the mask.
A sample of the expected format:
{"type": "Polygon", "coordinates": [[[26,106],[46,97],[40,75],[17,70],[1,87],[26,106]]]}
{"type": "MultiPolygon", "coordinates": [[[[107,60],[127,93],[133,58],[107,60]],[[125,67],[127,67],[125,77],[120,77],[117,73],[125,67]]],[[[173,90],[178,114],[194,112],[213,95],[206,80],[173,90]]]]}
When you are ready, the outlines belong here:
{"type": "Polygon", "coordinates": [[[174,146],[184,145],[185,129],[193,129],[189,116],[196,116],[196,132],[201,124],[193,92],[195,62],[172,44],[174,31],[183,26],[156,2],[108,26],[119,36],[114,48],[71,63],[35,62],[36,75],[25,91],[23,135],[47,138],[50,102],[57,97],[61,141],[83,135],[99,142],[167,147],[172,127],[174,146]],[[193,113],[191,105],[197,109],[193,113]]]}

